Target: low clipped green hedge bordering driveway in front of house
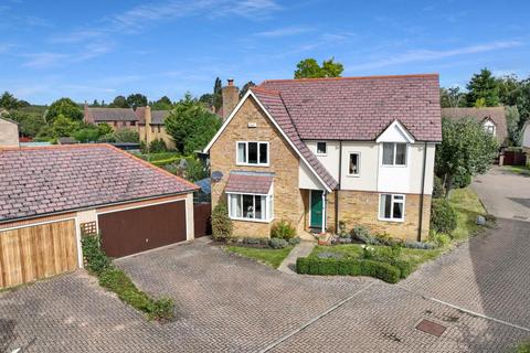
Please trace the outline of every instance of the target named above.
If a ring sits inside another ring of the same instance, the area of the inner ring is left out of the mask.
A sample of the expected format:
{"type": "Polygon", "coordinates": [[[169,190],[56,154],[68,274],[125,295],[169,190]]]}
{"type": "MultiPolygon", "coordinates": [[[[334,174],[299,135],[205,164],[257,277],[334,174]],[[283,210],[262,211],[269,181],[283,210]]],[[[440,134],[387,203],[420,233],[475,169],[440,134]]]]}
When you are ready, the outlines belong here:
{"type": "Polygon", "coordinates": [[[296,272],[321,276],[370,276],[396,284],[402,274],[398,266],[367,259],[335,259],[298,257],[296,272]]]}

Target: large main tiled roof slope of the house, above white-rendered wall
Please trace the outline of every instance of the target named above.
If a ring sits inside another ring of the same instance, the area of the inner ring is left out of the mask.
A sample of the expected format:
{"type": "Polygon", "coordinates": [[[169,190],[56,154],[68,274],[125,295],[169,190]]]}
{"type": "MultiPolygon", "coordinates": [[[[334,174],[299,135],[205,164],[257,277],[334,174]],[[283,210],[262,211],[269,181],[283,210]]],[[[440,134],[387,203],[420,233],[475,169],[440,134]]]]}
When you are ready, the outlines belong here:
{"type": "Polygon", "coordinates": [[[278,79],[258,87],[280,96],[303,140],[374,140],[393,120],[415,140],[442,140],[436,74],[278,79]]]}

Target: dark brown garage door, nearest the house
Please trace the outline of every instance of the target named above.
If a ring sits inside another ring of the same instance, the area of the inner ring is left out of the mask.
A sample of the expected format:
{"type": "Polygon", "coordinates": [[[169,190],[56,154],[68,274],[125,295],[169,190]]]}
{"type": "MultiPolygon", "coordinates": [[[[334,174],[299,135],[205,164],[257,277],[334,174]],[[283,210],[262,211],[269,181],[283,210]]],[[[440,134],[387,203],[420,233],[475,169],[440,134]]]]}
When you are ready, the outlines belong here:
{"type": "Polygon", "coordinates": [[[186,202],[100,214],[102,246],[121,257],[186,240],[186,202]]]}

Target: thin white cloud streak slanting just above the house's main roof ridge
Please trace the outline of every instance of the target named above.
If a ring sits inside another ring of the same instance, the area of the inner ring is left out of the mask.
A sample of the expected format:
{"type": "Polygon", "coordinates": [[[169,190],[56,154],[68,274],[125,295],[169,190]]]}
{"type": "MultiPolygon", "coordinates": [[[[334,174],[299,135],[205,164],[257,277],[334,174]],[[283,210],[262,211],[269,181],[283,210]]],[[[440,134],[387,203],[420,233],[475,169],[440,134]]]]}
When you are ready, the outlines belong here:
{"type": "Polygon", "coordinates": [[[386,66],[394,66],[400,64],[407,64],[413,62],[425,62],[425,61],[435,61],[446,57],[453,57],[458,55],[469,55],[484,52],[491,52],[501,49],[515,47],[522,45],[522,42],[519,41],[497,41],[486,44],[463,46],[443,51],[432,51],[432,50],[416,50],[409,51],[402,54],[392,55],[391,57],[384,57],[375,61],[371,61],[365,64],[358,65],[347,65],[348,72],[356,71],[365,71],[373,68],[381,68],[386,66]]]}

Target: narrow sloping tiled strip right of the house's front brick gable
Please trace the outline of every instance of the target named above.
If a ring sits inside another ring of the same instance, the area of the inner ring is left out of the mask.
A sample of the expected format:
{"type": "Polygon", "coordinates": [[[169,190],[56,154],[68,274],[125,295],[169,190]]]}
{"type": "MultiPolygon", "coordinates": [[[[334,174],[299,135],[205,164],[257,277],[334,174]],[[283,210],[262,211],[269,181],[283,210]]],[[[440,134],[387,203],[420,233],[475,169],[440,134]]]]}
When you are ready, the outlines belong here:
{"type": "Polygon", "coordinates": [[[298,131],[293,124],[289,113],[286,110],[280,95],[277,92],[252,87],[252,92],[257,99],[265,106],[267,111],[273,116],[274,120],[279,125],[282,130],[287,135],[293,145],[298,149],[306,161],[311,165],[316,173],[322,179],[329,189],[337,188],[338,182],[331,176],[328,170],[320,163],[309,148],[304,143],[298,131]]]}

